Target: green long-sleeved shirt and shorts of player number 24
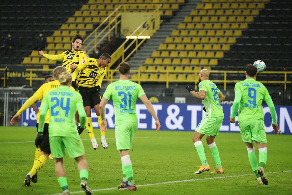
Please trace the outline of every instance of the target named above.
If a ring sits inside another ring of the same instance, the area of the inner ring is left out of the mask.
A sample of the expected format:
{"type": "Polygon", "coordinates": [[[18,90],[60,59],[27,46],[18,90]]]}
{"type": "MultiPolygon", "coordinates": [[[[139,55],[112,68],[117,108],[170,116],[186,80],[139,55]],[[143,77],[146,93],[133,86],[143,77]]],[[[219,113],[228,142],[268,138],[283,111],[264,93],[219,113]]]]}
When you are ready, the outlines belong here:
{"type": "Polygon", "coordinates": [[[84,155],[84,146],[77,132],[74,115],[80,116],[80,126],[85,127],[86,113],[81,95],[68,86],[60,86],[48,92],[42,102],[39,132],[44,128],[44,117],[50,111],[49,140],[53,158],[63,158],[65,147],[69,158],[84,155]]]}

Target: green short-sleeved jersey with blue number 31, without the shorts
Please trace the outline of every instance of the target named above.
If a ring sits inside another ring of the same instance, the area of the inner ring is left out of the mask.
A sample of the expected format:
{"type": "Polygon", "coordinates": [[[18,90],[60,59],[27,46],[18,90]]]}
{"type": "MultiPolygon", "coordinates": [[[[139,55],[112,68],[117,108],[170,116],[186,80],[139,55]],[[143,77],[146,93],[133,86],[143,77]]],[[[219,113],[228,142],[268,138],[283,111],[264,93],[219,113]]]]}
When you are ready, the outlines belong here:
{"type": "Polygon", "coordinates": [[[145,94],[141,85],[130,80],[118,80],[107,86],[102,97],[114,103],[114,125],[126,122],[138,122],[136,115],[136,101],[145,94]]]}

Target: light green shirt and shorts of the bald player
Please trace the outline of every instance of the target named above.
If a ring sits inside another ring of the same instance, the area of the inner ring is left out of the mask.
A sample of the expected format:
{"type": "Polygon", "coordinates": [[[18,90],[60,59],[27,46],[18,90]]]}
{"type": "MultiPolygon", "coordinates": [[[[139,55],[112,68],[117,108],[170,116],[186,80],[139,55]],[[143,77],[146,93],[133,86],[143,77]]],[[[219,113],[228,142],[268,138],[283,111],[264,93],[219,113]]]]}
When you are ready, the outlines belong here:
{"type": "Polygon", "coordinates": [[[206,92],[206,98],[203,100],[206,115],[195,131],[209,136],[218,135],[224,118],[218,96],[220,89],[212,81],[204,80],[199,83],[199,91],[201,90],[206,92]]]}

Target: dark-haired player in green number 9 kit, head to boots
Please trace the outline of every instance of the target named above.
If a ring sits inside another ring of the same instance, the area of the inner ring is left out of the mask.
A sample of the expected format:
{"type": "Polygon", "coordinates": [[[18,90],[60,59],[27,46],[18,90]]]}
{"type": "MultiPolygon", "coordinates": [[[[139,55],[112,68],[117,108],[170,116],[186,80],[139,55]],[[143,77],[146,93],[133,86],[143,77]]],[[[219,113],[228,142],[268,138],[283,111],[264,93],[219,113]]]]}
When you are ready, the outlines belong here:
{"type": "Polygon", "coordinates": [[[272,127],[275,133],[278,132],[276,110],[272,98],[267,88],[260,82],[255,80],[257,69],[254,65],[246,65],[246,80],[237,82],[234,88],[234,102],[232,105],[232,114],[230,122],[235,123],[235,116],[239,108],[239,129],[242,141],[245,142],[248,159],[251,168],[257,176],[259,184],[268,184],[267,177],[264,173],[264,167],[267,163],[267,138],[264,129],[264,113],[262,108],[263,100],[266,101],[272,115],[272,127]],[[253,141],[258,146],[259,162],[255,154],[253,141]]]}

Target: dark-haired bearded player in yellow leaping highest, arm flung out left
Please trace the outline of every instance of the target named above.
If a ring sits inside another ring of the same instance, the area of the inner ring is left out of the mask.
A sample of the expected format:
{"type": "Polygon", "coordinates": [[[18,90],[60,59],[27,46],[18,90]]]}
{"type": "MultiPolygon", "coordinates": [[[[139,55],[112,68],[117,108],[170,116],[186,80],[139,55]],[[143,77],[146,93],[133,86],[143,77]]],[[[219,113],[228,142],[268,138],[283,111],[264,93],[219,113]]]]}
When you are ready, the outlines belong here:
{"type": "MultiPolygon", "coordinates": [[[[66,68],[67,72],[72,74],[72,81],[75,80],[77,74],[73,74],[75,69],[81,68],[80,64],[85,64],[86,54],[83,51],[80,51],[82,45],[84,43],[84,37],[81,34],[76,34],[72,39],[72,49],[64,51],[58,55],[49,55],[44,54],[44,51],[39,51],[41,56],[49,60],[54,61],[63,61],[62,66],[66,68]]],[[[77,71],[79,73],[80,70],[77,71]]]]}

